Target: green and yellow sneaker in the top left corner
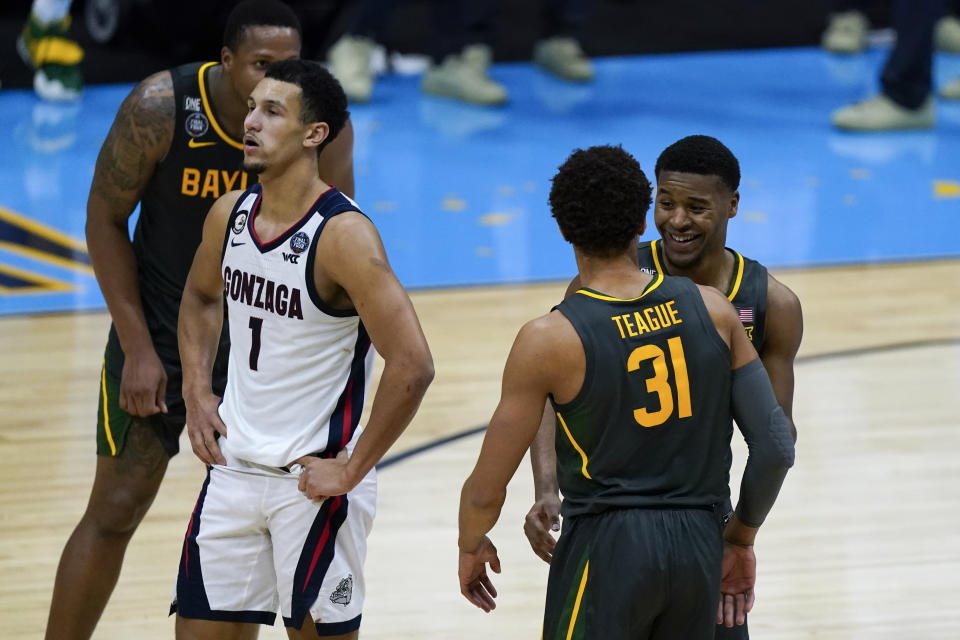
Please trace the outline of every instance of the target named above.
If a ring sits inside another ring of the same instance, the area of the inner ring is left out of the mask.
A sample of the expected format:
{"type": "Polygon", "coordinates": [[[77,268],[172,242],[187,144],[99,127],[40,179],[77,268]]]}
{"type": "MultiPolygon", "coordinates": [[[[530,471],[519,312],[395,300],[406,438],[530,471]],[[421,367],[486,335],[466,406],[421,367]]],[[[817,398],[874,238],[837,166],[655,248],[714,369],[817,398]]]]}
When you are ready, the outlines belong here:
{"type": "Polygon", "coordinates": [[[83,48],[67,37],[70,16],[43,24],[32,14],[17,39],[23,61],[35,69],[33,90],[45,100],[76,100],[83,90],[83,48]]]}

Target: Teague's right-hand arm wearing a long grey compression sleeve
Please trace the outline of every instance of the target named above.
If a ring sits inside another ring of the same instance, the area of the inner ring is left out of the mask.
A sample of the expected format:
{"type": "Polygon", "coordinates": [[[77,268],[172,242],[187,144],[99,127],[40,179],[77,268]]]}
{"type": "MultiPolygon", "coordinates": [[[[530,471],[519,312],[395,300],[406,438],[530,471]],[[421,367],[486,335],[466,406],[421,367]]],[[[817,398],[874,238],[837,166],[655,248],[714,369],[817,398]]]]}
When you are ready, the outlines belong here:
{"type": "Polygon", "coordinates": [[[793,466],[790,419],[777,403],[773,386],[736,310],[716,289],[697,285],[720,337],[730,345],[730,406],[749,454],[740,481],[740,499],[724,531],[722,594],[717,623],[743,624],[753,608],[756,556],[753,542],[793,466]]]}

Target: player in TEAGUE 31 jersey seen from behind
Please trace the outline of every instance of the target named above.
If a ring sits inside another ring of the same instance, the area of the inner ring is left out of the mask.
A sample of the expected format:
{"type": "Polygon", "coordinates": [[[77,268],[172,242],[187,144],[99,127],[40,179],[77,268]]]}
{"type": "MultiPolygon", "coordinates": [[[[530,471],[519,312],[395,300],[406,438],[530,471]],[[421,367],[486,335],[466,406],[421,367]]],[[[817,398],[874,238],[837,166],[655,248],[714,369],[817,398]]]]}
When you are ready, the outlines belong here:
{"type": "Polygon", "coordinates": [[[486,533],[549,398],[566,518],[544,638],[712,638],[719,593],[745,606],[754,537],[793,464],[789,420],[733,306],[638,269],[649,204],[619,147],[578,150],[560,167],[550,206],[580,288],[517,335],[461,494],[460,589],[490,611],[487,564],[500,563],[486,533]],[[724,529],[731,417],[750,456],[724,529]]]}

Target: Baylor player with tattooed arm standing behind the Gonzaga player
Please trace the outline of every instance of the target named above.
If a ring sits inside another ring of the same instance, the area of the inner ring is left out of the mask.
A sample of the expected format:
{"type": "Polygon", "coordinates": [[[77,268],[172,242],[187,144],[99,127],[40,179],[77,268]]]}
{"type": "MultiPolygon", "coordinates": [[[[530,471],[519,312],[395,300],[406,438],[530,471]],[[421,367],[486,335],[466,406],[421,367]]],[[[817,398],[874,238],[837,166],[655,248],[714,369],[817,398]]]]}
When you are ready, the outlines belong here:
{"type": "MultiPolygon", "coordinates": [[[[271,62],[299,55],[300,41],[296,15],[279,0],[239,3],[227,20],[220,63],[142,81],[100,150],[86,237],[113,326],[96,385],[93,489],[60,558],[47,638],[93,634],[127,543],[177,452],[185,419],[176,341],[180,294],[210,206],[255,179],[240,171],[247,96],[271,62]],[[138,203],[131,242],[127,224],[138,203]]],[[[319,162],[323,179],[351,196],[352,145],[348,126],[319,162]]],[[[224,340],[220,389],[226,347],[224,340]]]]}

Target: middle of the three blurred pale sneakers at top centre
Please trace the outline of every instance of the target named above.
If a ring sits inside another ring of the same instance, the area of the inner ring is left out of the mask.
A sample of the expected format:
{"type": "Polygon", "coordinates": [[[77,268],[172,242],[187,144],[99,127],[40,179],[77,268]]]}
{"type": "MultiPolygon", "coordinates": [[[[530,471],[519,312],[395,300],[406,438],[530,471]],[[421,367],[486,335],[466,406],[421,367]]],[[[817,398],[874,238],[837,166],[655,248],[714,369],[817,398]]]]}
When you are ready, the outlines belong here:
{"type": "Polygon", "coordinates": [[[493,54],[484,44],[472,44],[460,54],[451,54],[440,65],[424,72],[420,88],[424,93],[480,105],[507,101],[506,88],[487,75],[493,54]]]}

